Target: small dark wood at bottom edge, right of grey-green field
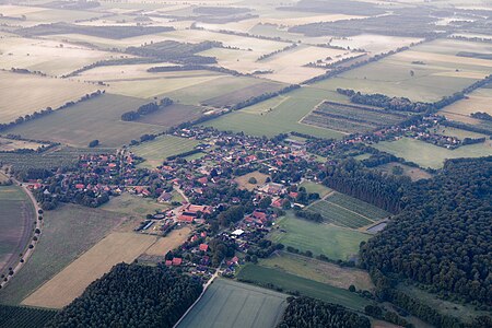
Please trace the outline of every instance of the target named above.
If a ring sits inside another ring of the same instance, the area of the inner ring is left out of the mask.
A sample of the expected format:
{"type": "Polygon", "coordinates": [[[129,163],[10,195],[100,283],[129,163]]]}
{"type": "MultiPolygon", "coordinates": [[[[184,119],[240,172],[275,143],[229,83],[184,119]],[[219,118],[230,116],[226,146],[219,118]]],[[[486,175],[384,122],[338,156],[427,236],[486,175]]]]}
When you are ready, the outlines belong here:
{"type": "Polygon", "coordinates": [[[371,321],[345,307],[309,297],[289,298],[278,328],[370,328],[371,321]]]}

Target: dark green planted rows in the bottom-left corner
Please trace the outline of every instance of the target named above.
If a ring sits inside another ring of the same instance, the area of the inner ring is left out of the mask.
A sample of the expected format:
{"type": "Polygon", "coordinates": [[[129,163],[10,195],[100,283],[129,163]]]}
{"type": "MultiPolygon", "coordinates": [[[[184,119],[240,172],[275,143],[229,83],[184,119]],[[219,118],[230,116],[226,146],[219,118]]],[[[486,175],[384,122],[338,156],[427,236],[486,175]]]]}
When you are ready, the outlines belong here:
{"type": "Polygon", "coordinates": [[[0,305],[0,327],[44,327],[56,314],[51,309],[0,305]]]}

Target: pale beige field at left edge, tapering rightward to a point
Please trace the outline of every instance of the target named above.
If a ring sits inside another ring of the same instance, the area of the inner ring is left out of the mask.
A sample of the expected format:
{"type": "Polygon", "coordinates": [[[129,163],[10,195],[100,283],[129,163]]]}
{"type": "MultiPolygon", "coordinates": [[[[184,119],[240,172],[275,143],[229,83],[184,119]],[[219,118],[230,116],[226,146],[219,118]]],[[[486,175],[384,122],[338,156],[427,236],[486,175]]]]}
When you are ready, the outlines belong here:
{"type": "Polygon", "coordinates": [[[57,108],[96,90],[85,83],[0,71],[0,124],[46,107],[57,108]]]}

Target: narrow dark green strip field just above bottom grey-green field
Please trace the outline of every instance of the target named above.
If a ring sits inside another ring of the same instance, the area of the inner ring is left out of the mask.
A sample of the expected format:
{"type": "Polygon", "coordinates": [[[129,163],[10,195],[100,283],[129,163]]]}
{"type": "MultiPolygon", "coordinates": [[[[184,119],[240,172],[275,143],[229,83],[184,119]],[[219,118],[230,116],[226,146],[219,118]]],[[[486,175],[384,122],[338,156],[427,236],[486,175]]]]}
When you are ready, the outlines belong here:
{"type": "Polygon", "coordinates": [[[246,265],[237,278],[259,284],[271,283],[284,291],[297,291],[302,295],[341,304],[356,311],[363,311],[364,306],[370,304],[370,301],[348,290],[256,265],[246,265]]]}

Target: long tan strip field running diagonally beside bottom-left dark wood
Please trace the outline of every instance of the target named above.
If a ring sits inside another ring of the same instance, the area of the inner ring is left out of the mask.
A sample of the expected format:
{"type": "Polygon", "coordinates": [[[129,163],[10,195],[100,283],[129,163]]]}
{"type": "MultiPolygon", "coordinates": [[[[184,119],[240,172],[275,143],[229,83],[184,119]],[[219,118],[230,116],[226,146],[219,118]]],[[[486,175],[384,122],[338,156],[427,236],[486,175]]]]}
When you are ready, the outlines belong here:
{"type": "Polygon", "coordinates": [[[110,233],[71,262],[61,272],[28,295],[23,305],[62,308],[85,288],[119,262],[131,263],[156,242],[156,237],[136,233],[110,233]]]}

